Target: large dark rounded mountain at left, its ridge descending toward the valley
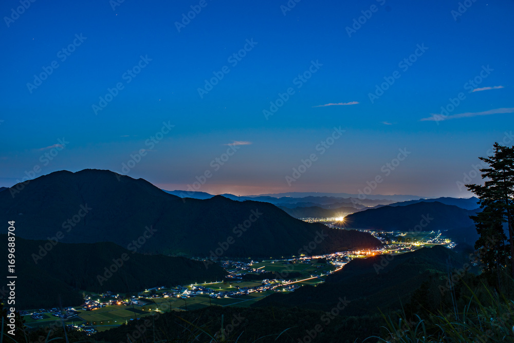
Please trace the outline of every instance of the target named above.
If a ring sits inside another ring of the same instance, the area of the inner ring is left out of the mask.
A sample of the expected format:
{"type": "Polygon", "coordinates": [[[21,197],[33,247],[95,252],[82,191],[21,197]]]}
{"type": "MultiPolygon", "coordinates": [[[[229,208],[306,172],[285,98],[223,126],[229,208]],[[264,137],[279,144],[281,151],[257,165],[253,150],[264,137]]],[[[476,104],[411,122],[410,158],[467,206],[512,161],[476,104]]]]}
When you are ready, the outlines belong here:
{"type": "Polygon", "coordinates": [[[11,220],[27,239],[61,233],[62,242],[114,242],[166,255],[218,249],[223,256],[270,257],[298,255],[309,243],[314,253],[379,244],[366,233],[294,219],[269,203],[181,199],[143,179],[95,169],[56,172],[0,192],[0,221],[11,220]],[[149,228],[152,238],[145,239],[149,228]]]}

